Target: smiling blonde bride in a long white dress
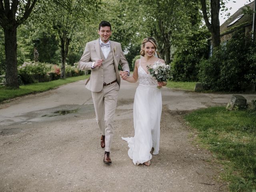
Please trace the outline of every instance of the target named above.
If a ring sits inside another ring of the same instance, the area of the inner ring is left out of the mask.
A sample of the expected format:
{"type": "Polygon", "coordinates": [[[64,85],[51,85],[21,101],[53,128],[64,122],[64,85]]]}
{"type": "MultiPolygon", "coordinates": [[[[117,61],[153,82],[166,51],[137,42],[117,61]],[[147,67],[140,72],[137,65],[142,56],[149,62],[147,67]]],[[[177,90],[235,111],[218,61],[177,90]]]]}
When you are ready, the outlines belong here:
{"type": "MultiPolygon", "coordinates": [[[[134,137],[122,137],[128,142],[128,156],[134,165],[150,166],[150,151],[154,148],[153,155],[159,152],[162,95],[157,86],[165,86],[166,82],[157,82],[147,68],[153,66],[156,61],[165,63],[164,60],[155,57],[156,48],[156,41],[153,38],[145,38],[140,52],[143,57],[136,60],[133,76],[123,78],[131,83],[139,80],[133,106],[134,137]]],[[[122,76],[122,72],[120,75],[122,76]]]]}

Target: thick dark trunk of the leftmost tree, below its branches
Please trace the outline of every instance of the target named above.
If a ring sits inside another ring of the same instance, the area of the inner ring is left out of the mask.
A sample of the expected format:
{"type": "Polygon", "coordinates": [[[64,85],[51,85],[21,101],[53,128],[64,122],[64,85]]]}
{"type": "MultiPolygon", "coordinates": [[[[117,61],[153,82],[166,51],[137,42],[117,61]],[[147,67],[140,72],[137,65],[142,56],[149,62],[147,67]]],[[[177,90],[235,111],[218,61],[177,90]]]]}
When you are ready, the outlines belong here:
{"type": "Polygon", "coordinates": [[[4,28],[4,46],[6,56],[6,86],[19,88],[17,69],[17,28],[9,26],[4,28]]]}

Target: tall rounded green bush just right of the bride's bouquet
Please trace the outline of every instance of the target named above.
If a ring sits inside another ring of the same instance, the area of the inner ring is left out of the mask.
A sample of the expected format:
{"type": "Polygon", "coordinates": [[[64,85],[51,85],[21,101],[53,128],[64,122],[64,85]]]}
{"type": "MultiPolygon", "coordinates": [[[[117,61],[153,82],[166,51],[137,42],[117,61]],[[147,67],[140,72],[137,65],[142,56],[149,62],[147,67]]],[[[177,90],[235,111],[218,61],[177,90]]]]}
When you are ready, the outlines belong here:
{"type": "Polygon", "coordinates": [[[188,34],[174,53],[171,63],[174,81],[198,81],[199,64],[208,57],[207,28],[188,34]]]}

